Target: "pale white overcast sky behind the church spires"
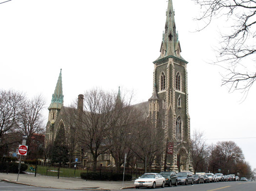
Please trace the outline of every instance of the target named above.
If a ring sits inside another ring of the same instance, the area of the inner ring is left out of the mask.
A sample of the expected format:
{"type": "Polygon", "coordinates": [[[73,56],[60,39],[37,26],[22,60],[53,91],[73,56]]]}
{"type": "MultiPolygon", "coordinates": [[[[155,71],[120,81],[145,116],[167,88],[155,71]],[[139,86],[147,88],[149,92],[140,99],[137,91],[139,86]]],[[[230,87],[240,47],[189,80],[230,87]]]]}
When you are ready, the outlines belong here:
{"type": "MultiPolygon", "coordinates": [[[[3,2],[4,0],[0,0],[3,2]]],[[[42,94],[50,105],[62,69],[64,105],[93,87],[134,91],[134,103],[153,91],[167,0],[11,0],[0,4],[0,88],[42,94]]],[[[173,0],[181,55],[188,63],[191,134],[207,143],[233,140],[256,168],[256,88],[242,93],[221,87],[215,59],[219,31],[202,32],[193,21],[200,9],[191,0],[173,0]],[[236,138],[236,139],[234,139],[236,138]],[[241,139],[247,138],[247,139],[241,139]],[[254,138],[254,139],[253,139],[254,138]]],[[[47,118],[45,109],[45,118],[47,118]]]]}

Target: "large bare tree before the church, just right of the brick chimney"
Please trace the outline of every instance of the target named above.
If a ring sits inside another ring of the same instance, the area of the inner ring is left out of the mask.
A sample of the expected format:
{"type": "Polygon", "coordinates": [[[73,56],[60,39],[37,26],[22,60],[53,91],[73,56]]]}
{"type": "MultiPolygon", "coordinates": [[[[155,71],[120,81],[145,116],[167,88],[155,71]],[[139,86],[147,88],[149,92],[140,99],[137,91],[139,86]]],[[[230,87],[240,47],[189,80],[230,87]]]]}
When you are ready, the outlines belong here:
{"type": "Polygon", "coordinates": [[[79,145],[93,157],[94,171],[97,158],[108,151],[107,134],[113,126],[115,96],[100,89],[92,89],[84,94],[84,108],[79,116],[79,145]]]}

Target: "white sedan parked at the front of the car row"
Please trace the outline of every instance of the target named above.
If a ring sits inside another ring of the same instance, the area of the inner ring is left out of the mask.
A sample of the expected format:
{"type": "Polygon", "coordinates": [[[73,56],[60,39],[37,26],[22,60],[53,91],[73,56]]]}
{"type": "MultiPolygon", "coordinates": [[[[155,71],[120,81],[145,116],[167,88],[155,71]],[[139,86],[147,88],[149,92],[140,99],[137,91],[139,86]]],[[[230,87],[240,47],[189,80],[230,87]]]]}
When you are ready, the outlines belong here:
{"type": "Polygon", "coordinates": [[[156,186],[164,188],[164,185],[165,178],[158,173],[146,173],[134,181],[134,186],[137,189],[139,187],[151,187],[154,189],[156,186]]]}

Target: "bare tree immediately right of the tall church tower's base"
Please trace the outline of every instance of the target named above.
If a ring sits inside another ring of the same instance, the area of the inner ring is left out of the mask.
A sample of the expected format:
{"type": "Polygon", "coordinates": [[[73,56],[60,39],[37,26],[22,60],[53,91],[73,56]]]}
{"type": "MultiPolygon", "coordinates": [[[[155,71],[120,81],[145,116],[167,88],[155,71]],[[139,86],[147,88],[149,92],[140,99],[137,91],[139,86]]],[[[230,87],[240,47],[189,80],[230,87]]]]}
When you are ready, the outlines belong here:
{"type": "Polygon", "coordinates": [[[202,132],[194,131],[192,139],[192,158],[193,168],[195,173],[199,171],[204,172],[207,168],[207,159],[209,157],[208,145],[203,137],[202,132]]]}

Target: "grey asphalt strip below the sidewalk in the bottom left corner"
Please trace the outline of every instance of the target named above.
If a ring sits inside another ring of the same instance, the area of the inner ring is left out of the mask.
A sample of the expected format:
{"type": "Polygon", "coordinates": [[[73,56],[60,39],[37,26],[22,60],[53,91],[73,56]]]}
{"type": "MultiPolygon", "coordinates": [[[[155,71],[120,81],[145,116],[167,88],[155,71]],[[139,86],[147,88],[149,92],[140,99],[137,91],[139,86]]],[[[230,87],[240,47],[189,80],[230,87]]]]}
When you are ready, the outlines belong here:
{"type": "Polygon", "coordinates": [[[41,188],[41,187],[26,186],[26,185],[9,183],[9,182],[0,182],[0,191],[79,191],[79,190],[41,188]]]}

